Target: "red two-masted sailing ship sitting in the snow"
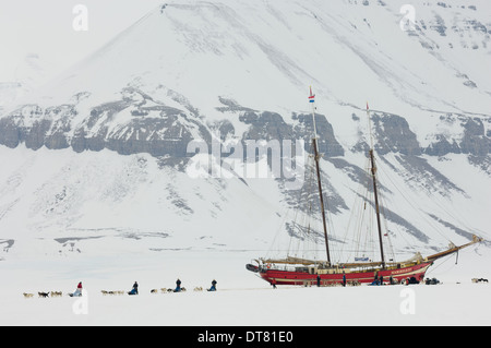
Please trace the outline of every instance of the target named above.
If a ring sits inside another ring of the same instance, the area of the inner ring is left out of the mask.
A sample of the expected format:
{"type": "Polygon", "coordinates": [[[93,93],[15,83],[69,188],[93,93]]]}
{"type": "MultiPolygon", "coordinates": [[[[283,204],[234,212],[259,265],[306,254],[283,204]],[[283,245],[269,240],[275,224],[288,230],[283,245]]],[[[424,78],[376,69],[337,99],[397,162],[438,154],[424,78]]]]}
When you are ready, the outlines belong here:
{"type": "MultiPolygon", "coordinates": [[[[312,105],[312,151],[314,160],[314,171],[318,183],[319,203],[323,224],[323,238],[325,241],[325,260],[308,260],[297,256],[287,255],[285,259],[265,259],[260,257],[253,263],[247,264],[247,269],[259,274],[264,280],[275,285],[301,285],[308,286],[319,284],[323,286],[343,284],[358,285],[363,283],[373,283],[374,279],[385,279],[387,283],[400,283],[403,280],[412,279],[421,281],[428,268],[439,259],[458,252],[460,249],[482,241],[482,238],[474,235],[472,240],[463,245],[450,244],[448,249],[429,256],[423,257],[419,252],[409,260],[395,262],[393,259],[386,260],[383,243],[381,206],[379,203],[379,189],[376,179],[376,166],[373,151],[373,141],[370,125],[370,109],[367,103],[367,117],[369,121],[370,149],[368,157],[370,161],[369,175],[372,181],[372,190],[374,197],[374,211],[376,215],[378,229],[378,247],[380,260],[372,261],[369,257],[355,257],[355,262],[334,263],[331,257],[330,233],[327,231],[327,220],[324,208],[323,185],[321,182],[320,152],[315,128],[315,106],[314,94],[310,88],[309,103],[312,105]]],[[[310,229],[310,226],[306,227],[310,229]]],[[[385,233],[386,236],[386,233],[385,233]]]]}

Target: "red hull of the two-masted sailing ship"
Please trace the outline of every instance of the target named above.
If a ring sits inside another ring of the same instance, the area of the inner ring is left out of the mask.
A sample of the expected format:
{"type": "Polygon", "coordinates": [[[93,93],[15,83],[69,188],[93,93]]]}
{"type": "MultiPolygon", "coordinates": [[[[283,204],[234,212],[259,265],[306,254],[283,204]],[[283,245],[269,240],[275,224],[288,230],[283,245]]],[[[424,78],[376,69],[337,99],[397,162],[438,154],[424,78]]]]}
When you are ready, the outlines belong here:
{"type": "MultiPolygon", "coordinates": [[[[380,279],[382,277],[383,283],[387,284],[390,277],[393,280],[400,283],[407,278],[416,278],[418,281],[424,279],[424,274],[430,267],[432,262],[423,262],[411,266],[388,268],[388,269],[366,269],[366,271],[351,271],[346,269],[346,283],[349,284],[371,284],[375,279],[375,275],[380,279]]],[[[300,285],[300,286],[314,286],[318,285],[318,274],[299,271],[283,271],[273,269],[267,267],[261,267],[258,272],[259,275],[266,281],[276,285],[300,285]]],[[[320,285],[331,286],[343,284],[343,271],[336,271],[335,273],[322,274],[320,272],[320,285]]]]}

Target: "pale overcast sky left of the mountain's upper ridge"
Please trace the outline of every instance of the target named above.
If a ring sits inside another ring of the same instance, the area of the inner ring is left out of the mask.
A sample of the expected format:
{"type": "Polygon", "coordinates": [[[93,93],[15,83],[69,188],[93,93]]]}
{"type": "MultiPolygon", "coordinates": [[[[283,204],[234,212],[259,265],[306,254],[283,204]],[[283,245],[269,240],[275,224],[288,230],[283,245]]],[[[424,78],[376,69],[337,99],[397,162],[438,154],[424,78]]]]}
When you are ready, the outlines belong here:
{"type": "Polygon", "coordinates": [[[61,72],[103,46],[166,0],[0,0],[0,82],[14,81],[26,53],[61,72]],[[87,31],[75,31],[76,4],[87,9],[87,31]]]}

